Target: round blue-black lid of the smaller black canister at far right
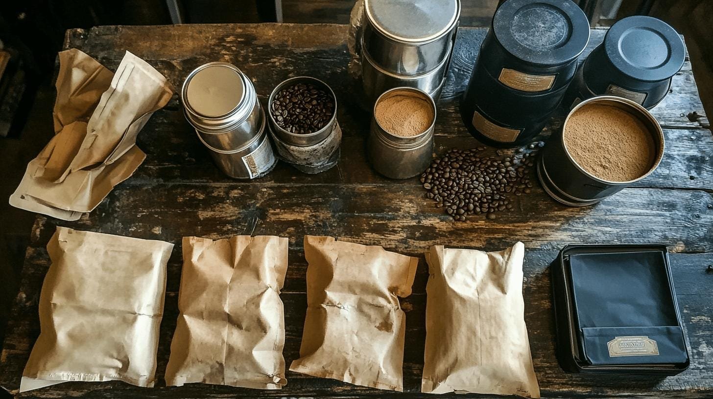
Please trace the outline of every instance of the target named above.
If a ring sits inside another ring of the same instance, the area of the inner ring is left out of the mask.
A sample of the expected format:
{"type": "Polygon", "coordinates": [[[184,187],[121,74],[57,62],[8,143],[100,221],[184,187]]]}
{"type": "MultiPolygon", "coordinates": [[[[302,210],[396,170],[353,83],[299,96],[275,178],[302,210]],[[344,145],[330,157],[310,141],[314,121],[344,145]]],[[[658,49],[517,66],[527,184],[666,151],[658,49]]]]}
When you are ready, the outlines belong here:
{"type": "Polygon", "coordinates": [[[686,48],[676,30],[651,16],[618,21],[607,32],[604,48],[615,68],[647,82],[674,76],[686,58],[686,48]]]}

